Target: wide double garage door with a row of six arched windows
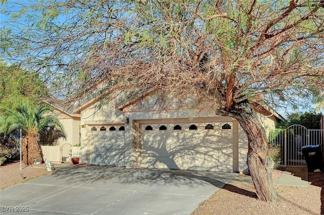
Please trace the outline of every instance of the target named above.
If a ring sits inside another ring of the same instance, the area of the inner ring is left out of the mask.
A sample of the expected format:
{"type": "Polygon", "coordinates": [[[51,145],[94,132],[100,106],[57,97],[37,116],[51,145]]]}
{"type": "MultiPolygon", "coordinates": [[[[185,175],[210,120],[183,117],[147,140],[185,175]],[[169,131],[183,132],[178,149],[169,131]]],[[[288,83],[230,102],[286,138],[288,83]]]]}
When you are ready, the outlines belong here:
{"type": "Polygon", "coordinates": [[[142,124],[141,166],[232,171],[232,123],[142,124]]]}

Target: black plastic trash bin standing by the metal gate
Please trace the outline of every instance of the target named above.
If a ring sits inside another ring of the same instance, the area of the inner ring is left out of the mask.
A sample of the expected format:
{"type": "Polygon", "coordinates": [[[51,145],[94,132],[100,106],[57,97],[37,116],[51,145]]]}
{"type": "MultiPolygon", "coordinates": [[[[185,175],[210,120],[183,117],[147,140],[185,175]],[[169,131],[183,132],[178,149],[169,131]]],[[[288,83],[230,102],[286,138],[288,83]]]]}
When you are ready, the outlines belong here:
{"type": "Polygon", "coordinates": [[[306,160],[308,171],[314,171],[315,169],[324,170],[324,161],[320,145],[303,146],[302,153],[306,160]]]}

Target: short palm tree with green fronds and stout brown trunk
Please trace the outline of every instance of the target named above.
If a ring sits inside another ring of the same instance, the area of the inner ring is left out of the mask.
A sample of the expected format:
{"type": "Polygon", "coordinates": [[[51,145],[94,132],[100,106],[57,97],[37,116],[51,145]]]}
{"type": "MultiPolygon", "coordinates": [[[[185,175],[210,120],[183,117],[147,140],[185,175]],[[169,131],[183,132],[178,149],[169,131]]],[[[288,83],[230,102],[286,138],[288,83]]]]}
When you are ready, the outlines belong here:
{"type": "Polygon", "coordinates": [[[34,160],[43,162],[43,153],[38,143],[38,136],[47,131],[49,127],[57,127],[62,133],[64,129],[57,118],[49,114],[51,108],[45,105],[18,106],[11,110],[0,108],[4,111],[4,122],[0,124],[0,131],[5,135],[22,130],[22,154],[23,162],[28,165],[34,160]]]}

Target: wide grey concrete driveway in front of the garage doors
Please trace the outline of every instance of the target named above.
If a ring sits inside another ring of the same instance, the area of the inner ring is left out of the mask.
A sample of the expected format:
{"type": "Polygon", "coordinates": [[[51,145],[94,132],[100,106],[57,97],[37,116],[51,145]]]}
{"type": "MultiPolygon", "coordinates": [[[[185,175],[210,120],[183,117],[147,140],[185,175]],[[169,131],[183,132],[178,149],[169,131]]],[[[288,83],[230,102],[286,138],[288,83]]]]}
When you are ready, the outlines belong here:
{"type": "Polygon", "coordinates": [[[1,214],[190,214],[235,173],[68,166],[0,191],[1,214]],[[16,210],[28,210],[16,212],[16,210]]]}

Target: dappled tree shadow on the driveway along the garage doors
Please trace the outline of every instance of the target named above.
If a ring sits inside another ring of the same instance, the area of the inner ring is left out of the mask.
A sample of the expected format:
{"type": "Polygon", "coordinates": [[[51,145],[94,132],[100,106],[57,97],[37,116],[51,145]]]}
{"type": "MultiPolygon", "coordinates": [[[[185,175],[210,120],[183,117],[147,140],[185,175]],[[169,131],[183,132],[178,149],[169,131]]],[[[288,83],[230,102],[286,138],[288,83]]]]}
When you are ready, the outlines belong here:
{"type": "Polygon", "coordinates": [[[159,184],[183,185],[197,187],[206,182],[217,188],[223,187],[235,177],[235,173],[219,173],[213,171],[154,169],[154,168],[125,168],[118,166],[79,165],[62,167],[52,176],[67,184],[104,183],[116,181],[121,184],[159,184]]]}

